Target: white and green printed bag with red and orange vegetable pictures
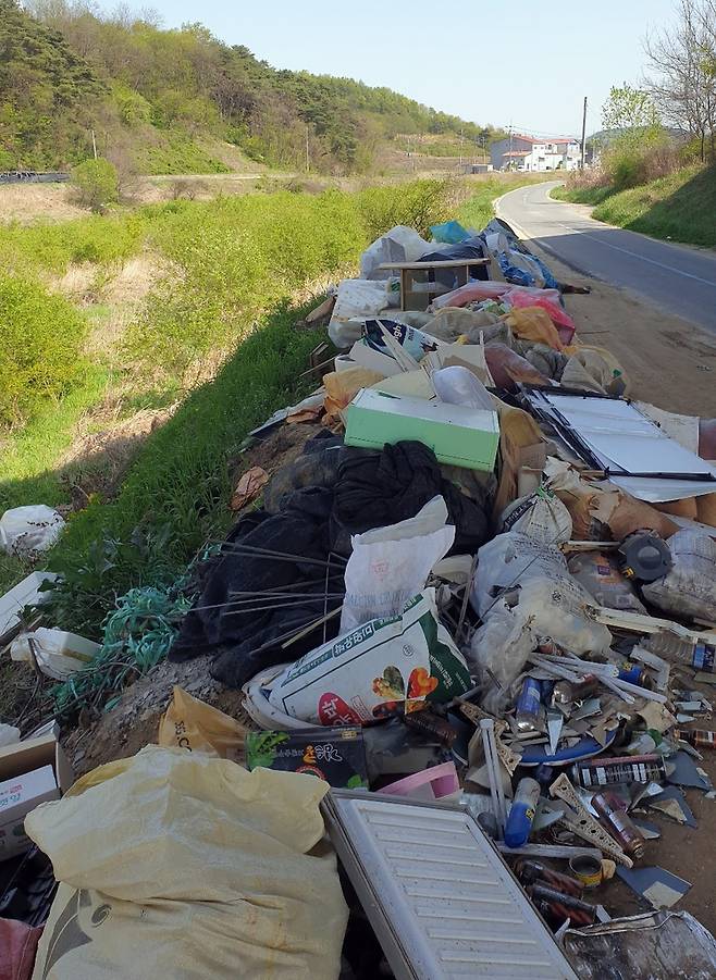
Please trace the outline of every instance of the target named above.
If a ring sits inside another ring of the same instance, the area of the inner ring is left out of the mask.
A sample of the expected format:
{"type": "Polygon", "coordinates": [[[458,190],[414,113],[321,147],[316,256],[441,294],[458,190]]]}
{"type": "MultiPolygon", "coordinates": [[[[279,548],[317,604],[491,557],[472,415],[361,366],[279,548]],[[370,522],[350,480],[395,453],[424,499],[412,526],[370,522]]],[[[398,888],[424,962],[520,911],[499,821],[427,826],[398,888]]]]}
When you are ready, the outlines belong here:
{"type": "Polygon", "coordinates": [[[363,724],[470,690],[462,655],[437,619],[435,590],[398,616],[324,643],[274,682],[269,702],[314,724],[363,724]]]}

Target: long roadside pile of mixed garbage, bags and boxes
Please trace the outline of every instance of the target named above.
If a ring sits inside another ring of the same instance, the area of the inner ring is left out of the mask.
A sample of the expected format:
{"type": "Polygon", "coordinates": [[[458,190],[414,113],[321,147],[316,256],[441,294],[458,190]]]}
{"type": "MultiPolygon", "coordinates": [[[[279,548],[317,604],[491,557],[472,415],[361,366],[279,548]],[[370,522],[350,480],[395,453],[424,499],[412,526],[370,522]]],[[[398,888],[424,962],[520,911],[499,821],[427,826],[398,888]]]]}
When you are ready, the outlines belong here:
{"type": "Polygon", "coordinates": [[[176,689],[158,746],[63,798],[55,766],[27,817],[61,883],[36,976],[716,976],[650,861],[716,797],[716,422],[630,400],[504,222],[432,231],[323,305],[320,387],[252,438],[324,427],[247,469],[172,627],[252,724],[176,689]]]}

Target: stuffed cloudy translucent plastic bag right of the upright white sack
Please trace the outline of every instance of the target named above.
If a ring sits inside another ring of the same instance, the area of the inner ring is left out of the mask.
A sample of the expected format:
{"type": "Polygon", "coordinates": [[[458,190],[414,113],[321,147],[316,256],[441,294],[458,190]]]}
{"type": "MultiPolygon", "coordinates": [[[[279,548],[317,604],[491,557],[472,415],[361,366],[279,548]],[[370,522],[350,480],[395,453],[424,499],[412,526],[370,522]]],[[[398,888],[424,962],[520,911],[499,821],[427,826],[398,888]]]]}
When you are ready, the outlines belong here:
{"type": "Polygon", "coordinates": [[[569,574],[561,551],[520,531],[498,534],[480,548],[470,601],[482,619],[501,606],[513,608],[531,620],[540,638],[576,654],[605,654],[612,643],[606,627],[587,615],[594,599],[569,574]]]}

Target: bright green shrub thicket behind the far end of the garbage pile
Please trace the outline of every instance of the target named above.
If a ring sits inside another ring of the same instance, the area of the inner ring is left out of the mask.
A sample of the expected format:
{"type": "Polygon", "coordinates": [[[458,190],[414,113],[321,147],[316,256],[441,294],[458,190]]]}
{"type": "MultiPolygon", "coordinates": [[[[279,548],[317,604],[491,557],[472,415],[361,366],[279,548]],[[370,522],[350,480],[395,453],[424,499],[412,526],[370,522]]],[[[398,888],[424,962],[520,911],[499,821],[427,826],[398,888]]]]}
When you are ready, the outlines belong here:
{"type": "Polygon", "coordinates": [[[429,234],[452,213],[452,185],[416,181],[358,194],[280,191],[164,206],[151,245],[182,270],[149,298],[127,355],[181,373],[236,343],[266,309],[319,277],[341,276],[395,224],[429,234]]]}

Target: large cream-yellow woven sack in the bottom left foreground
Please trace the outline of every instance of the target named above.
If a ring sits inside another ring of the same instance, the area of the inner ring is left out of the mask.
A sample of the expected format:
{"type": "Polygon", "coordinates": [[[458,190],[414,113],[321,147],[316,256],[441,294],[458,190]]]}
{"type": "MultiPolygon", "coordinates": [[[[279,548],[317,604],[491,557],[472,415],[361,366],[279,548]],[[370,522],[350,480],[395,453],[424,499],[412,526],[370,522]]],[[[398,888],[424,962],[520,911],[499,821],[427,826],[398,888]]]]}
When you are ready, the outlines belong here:
{"type": "Polygon", "coordinates": [[[61,882],[42,980],[336,980],[347,920],[322,848],[328,783],[150,745],[26,830],[61,882]]]}

